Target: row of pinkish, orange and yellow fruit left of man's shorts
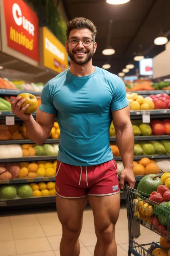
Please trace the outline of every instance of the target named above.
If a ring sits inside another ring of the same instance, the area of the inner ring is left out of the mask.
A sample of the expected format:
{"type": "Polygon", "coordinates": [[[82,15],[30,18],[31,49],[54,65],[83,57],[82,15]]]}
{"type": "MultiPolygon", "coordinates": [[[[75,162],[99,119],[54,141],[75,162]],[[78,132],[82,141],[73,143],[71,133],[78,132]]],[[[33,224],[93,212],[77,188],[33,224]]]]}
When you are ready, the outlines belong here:
{"type": "Polygon", "coordinates": [[[57,161],[0,163],[0,180],[55,177],[57,161]]]}

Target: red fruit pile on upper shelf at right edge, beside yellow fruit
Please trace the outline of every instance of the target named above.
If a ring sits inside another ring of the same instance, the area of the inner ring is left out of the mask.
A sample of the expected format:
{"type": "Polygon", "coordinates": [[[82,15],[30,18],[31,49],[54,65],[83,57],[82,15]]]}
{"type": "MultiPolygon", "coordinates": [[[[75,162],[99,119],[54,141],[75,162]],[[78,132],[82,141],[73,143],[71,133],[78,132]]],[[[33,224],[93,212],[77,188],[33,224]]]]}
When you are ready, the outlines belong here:
{"type": "Polygon", "coordinates": [[[154,109],[167,109],[170,108],[170,96],[166,93],[159,93],[150,95],[155,107],[154,109]]]}

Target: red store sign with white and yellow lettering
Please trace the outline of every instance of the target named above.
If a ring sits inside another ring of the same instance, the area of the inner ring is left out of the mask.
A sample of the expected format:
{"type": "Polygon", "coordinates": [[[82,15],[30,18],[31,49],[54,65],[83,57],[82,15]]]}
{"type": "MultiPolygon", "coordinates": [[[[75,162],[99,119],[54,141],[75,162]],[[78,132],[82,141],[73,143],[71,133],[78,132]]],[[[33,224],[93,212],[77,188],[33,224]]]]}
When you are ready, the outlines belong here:
{"type": "Polygon", "coordinates": [[[7,45],[39,61],[38,17],[23,0],[4,0],[7,45]]]}

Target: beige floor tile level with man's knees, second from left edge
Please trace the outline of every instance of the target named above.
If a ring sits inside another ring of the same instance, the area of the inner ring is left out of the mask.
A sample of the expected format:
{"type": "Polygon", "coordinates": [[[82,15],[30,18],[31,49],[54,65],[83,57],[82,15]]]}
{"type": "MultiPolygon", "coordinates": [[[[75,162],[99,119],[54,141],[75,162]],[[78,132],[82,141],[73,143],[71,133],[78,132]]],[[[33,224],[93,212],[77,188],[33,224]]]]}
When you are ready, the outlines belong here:
{"type": "Polygon", "coordinates": [[[14,239],[45,237],[41,226],[13,228],[14,239]]]}

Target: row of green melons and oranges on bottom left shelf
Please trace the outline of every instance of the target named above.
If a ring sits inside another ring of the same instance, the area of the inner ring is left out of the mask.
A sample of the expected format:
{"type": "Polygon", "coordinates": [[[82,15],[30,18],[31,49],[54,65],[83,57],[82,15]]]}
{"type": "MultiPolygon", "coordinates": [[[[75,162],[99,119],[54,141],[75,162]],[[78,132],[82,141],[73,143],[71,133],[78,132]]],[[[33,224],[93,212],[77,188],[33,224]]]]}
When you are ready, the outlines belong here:
{"type": "Polygon", "coordinates": [[[47,184],[41,182],[30,185],[5,185],[0,187],[0,200],[10,200],[14,198],[29,198],[42,196],[55,196],[55,182],[49,181],[47,184]]]}

